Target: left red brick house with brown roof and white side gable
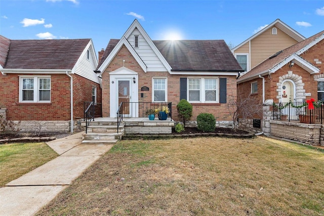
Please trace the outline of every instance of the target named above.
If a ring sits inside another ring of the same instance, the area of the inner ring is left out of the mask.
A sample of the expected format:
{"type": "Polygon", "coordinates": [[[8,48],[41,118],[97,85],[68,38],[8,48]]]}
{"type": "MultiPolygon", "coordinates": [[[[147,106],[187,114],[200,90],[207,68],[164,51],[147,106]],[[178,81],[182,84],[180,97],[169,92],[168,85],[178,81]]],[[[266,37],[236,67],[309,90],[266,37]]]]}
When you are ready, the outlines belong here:
{"type": "Polygon", "coordinates": [[[73,131],[84,102],[101,103],[92,39],[11,40],[0,35],[0,108],[34,131],[73,131]],[[72,105],[71,105],[72,103],[72,105]]]}

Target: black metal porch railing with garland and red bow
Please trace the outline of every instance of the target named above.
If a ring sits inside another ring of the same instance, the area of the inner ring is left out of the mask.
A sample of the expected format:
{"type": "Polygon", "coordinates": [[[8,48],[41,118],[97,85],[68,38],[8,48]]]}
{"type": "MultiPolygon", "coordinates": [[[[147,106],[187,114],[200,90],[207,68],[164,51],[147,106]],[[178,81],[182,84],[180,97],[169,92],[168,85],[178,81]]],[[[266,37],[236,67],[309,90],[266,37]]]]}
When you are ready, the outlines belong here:
{"type": "Polygon", "coordinates": [[[306,102],[273,103],[272,119],[323,123],[324,102],[313,102],[314,109],[308,109],[306,102]]]}

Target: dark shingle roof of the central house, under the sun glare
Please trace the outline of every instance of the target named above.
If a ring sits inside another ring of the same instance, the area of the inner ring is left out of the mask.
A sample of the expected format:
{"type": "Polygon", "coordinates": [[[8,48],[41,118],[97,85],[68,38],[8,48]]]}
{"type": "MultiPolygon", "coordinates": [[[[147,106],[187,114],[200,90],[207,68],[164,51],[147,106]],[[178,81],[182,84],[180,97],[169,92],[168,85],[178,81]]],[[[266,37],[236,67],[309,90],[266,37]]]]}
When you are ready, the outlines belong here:
{"type": "MultiPolygon", "coordinates": [[[[98,68],[117,45],[111,39],[98,68]]],[[[242,71],[224,40],[153,40],[173,71],[242,71]]]]}

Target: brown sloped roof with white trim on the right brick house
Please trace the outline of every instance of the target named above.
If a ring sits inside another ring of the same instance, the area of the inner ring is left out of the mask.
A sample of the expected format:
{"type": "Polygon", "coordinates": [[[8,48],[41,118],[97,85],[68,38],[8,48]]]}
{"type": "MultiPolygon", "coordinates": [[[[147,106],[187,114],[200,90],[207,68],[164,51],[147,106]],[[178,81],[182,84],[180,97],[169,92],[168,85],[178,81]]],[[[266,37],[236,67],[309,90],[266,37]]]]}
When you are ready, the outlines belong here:
{"type": "Polygon", "coordinates": [[[295,44],[285,50],[282,50],[270,58],[264,60],[259,65],[255,66],[252,70],[242,75],[237,79],[237,82],[251,80],[258,75],[264,75],[267,73],[274,73],[276,70],[290,62],[296,60],[297,64],[307,70],[310,73],[319,72],[319,69],[312,65],[307,60],[303,59],[299,55],[306,52],[308,49],[316,45],[319,41],[324,39],[324,31],[321,31],[301,42],[295,44]]]}

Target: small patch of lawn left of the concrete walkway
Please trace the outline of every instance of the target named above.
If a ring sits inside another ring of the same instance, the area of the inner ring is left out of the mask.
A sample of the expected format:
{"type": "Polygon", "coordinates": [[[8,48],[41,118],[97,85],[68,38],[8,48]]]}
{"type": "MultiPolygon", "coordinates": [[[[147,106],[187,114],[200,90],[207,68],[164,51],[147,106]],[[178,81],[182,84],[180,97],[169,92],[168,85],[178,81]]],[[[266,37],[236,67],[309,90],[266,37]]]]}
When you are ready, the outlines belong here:
{"type": "Polygon", "coordinates": [[[57,156],[46,143],[0,145],[0,187],[57,156]]]}

